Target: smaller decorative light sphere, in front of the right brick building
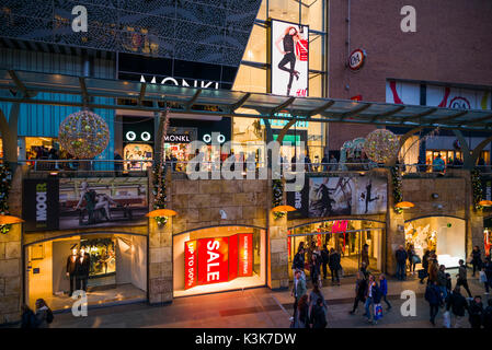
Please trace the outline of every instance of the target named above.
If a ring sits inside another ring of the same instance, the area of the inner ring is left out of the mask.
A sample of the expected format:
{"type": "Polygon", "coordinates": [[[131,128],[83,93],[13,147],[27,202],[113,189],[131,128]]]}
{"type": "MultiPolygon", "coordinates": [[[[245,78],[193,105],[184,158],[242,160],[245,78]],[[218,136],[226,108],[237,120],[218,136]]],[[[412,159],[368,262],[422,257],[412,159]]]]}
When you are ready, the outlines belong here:
{"type": "Polygon", "coordinates": [[[364,153],[376,163],[385,163],[394,156],[400,149],[398,137],[389,130],[371,131],[364,142],[364,153]]]}

